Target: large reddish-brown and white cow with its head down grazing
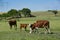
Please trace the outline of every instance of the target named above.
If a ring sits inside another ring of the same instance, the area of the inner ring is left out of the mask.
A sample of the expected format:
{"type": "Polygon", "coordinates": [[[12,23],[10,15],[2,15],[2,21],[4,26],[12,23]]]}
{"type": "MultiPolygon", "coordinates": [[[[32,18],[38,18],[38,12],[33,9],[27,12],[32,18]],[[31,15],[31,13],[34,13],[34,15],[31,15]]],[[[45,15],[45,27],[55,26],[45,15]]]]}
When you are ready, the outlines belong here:
{"type": "Polygon", "coordinates": [[[30,33],[32,33],[32,31],[34,29],[38,29],[38,28],[46,28],[46,32],[50,33],[49,21],[38,20],[38,21],[36,21],[36,23],[31,24],[30,25],[30,33]]]}

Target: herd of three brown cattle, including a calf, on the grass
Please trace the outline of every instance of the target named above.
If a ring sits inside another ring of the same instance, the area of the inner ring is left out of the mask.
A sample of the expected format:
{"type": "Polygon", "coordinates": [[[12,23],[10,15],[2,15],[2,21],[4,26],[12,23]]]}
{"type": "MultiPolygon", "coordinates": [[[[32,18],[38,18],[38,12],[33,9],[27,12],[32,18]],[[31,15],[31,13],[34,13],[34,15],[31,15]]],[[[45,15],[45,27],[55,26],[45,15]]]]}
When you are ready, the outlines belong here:
{"type": "MultiPolygon", "coordinates": [[[[15,30],[17,30],[17,21],[15,19],[9,20],[8,23],[10,25],[10,29],[12,29],[12,26],[14,26],[15,30]]],[[[24,28],[26,31],[27,30],[26,28],[29,27],[30,28],[29,33],[32,33],[34,32],[34,30],[37,31],[38,28],[45,28],[46,29],[45,33],[51,33],[49,25],[50,22],[48,20],[37,20],[33,24],[20,24],[20,30],[24,28]]]]}

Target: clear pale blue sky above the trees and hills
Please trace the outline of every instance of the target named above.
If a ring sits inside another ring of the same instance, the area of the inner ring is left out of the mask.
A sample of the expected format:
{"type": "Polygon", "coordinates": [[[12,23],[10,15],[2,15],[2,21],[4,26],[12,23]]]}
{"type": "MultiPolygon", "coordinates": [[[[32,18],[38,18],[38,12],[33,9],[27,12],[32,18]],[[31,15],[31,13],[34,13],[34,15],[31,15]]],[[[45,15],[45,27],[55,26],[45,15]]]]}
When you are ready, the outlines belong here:
{"type": "Polygon", "coordinates": [[[23,8],[29,8],[31,11],[60,10],[60,0],[0,0],[2,12],[23,8]]]}

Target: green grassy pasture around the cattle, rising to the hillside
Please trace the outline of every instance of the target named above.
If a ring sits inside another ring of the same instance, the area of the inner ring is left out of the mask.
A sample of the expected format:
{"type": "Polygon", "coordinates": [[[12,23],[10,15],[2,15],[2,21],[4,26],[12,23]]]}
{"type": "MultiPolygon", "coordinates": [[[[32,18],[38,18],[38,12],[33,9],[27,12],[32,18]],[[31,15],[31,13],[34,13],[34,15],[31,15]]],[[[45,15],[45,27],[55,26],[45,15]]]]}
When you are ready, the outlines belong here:
{"type": "Polygon", "coordinates": [[[18,29],[17,31],[13,28],[10,30],[7,20],[0,21],[0,40],[60,40],[60,14],[54,16],[53,13],[48,12],[34,12],[32,13],[36,17],[31,18],[20,18],[17,19],[18,29]],[[35,14],[34,14],[35,13],[35,14]],[[29,33],[29,27],[27,31],[20,31],[20,23],[34,23],[36,20],[49,20],[50,30],[53,34],[44,34],[45,29],[38,29],[39,33],[29,33]]]}

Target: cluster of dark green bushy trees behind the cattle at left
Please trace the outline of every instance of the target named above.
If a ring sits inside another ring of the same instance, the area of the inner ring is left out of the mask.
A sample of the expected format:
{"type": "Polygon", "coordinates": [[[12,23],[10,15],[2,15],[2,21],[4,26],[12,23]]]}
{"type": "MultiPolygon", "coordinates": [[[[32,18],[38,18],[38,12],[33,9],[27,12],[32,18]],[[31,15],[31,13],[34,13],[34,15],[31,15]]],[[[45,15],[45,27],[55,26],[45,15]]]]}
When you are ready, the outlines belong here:
{"type": "Polygon", "coordinates": [[[21,18],[21,17],[35,17],[35,16],[31,14],[30,9],[23,8],[22,10],[11,9],[7,13],[0,14],[0,17],[21,18]]]}

